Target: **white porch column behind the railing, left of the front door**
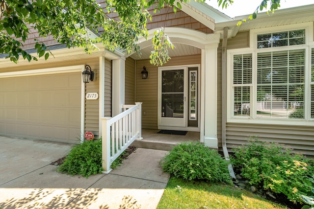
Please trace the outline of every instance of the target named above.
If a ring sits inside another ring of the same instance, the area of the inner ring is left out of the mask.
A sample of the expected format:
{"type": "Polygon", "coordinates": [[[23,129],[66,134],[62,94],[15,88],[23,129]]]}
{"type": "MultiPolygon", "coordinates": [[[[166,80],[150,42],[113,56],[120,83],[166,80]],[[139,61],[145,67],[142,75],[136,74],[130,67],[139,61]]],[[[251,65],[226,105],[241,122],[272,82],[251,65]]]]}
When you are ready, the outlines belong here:
{"type": "Polygon", "coordinates": [[[112,60],[112,116],[122,113],[125,102],[125,58],[112,60]]]}

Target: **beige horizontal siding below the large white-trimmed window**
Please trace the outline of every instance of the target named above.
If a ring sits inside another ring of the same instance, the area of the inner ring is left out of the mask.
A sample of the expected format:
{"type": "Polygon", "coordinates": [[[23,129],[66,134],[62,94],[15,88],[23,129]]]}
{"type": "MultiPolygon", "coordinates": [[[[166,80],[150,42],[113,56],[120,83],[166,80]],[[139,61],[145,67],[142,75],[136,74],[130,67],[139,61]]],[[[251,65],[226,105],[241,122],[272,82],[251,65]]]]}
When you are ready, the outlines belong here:
{"type": "Polygon", "coordinates": [[[294,152],[314,156],[314,129],[311,126],[227,123],[229,149],[247,143],[250,136],[261,141],[283,143],[293,148],[294,152]]]}

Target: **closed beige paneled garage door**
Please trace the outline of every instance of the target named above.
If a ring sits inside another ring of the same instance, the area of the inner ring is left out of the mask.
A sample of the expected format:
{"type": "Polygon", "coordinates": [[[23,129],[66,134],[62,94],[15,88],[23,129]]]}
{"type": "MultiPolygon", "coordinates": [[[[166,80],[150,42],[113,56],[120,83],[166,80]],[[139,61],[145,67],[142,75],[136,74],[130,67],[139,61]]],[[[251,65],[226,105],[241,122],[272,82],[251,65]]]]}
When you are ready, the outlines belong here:
{"type": "Polygon", "coordinates": [[[0,78],[0,135],[79,142],[81,73],[0,78]]]}

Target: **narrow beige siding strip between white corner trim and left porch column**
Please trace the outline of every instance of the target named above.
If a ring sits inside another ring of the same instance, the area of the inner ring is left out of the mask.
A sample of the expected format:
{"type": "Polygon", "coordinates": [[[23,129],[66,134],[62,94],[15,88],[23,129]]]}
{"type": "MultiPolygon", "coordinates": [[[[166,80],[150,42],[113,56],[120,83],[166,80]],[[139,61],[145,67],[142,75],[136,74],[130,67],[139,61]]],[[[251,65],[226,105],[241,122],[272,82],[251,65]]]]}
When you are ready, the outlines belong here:
{"type": "Polygon", "coordinates": [[[105,117],[111,117],[112,61],[105,59],[105,117]]]}

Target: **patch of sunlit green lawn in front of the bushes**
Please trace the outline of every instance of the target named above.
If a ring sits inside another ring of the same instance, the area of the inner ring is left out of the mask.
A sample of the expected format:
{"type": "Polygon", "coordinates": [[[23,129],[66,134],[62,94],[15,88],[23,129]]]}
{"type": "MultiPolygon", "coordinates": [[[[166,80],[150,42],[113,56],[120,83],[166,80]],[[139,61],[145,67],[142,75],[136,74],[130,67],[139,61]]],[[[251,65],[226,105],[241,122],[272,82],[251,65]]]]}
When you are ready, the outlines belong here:
{"type": "Polygon", "coordinates": [[[157,209],[285,209],[248,191],[171,178],[157,209]]]}

